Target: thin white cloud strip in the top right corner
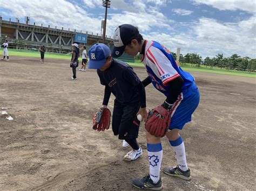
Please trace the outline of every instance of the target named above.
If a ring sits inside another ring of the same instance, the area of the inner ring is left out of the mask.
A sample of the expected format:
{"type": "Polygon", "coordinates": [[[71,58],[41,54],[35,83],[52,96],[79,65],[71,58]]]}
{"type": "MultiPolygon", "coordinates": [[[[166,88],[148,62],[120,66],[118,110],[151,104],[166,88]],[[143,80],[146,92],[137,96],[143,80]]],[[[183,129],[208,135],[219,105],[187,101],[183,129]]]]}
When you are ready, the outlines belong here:
{"type": "Polygon", "coordinates": [[[197,4],[211,5],[219,10],[243,10],[251,13],[256,12],[255,0],[192,0],[197,4]]]}

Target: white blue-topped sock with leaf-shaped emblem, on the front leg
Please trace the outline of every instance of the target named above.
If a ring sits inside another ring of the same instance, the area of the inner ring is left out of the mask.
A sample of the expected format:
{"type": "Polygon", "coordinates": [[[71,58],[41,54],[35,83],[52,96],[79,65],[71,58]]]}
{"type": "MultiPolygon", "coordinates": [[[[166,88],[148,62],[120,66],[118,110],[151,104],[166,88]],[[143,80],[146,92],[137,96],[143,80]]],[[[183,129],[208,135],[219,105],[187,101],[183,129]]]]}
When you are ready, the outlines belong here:
{"type": "Polygon", "coordinates": [[[147,154],[149,155],[150,178],[154,183],[160,179],[160,167],[163,158],[163,148],[161,143],[147,144],[147,154]]]}

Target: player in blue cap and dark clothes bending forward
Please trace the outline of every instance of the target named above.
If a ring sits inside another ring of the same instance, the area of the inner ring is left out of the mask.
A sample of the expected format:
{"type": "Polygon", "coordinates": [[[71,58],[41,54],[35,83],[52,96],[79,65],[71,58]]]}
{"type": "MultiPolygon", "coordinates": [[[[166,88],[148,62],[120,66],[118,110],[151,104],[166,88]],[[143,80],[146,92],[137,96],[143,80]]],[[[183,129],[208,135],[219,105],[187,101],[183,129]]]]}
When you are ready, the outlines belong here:
{"type": "Polygon", "coordinates": [[[89,50],[88,68],[97,69],[100,83],[105,86],[102,108],[109,103],[111,93],[116,97],[112,115],[112,130],[115,136],[125,140],[132,151],[124,160],[139,158],[143,151],[138,145],[140,121],[137,114],[146,119],[146,94],[142,82],[127,63],[111,58],[111,51],[105,44],[95,44],[89,50]]]}

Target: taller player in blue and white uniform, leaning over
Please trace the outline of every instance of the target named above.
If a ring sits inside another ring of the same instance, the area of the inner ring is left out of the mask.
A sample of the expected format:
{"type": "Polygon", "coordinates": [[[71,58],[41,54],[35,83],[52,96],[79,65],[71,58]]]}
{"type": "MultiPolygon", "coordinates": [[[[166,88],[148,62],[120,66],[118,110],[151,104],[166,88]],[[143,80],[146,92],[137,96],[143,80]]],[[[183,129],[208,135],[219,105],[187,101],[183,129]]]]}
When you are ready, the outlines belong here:
{"type": "MultiPolygon", "coordinates": [[[[165,167],[164,173],[184,180],[190,180],[190,169],[187,167],[185,146],[179,131],[191,121],[191,116],[199,104],[199,90],[194,77],[184,72],[174,60],[168,49],[157,41],[144,40],[137,27],[123,24],[117,27],[113,35],[114,48],[112,57],[117,58],[124,52],[136,56],[143,55],[142,62],[149,75],[143,81],[144,86],[153,86],[166,96],[161,104],[170,112],[171,123],[166,137],[176,155],[178,165],[165,167]]],[[[147,127],[146,127],[147,128],[147,127]]],[[[163,158],[161,139],[146,132],[147,152],[150,172],[142,179],[132,180],[132,185],[140,189],[162,189],[160,167],[163,158]]]]}

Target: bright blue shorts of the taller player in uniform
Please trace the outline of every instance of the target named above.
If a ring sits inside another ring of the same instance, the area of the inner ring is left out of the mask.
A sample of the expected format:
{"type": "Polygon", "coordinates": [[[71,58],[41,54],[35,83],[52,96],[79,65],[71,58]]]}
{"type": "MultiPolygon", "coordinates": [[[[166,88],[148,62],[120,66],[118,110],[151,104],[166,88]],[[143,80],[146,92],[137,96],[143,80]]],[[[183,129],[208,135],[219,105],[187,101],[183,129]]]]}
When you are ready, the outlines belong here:
{"type": "Polygon", "coordinates": [[[191,121],[191,116],[198,107],[200,100],[199,90],[196,83],[181,90],[178,100],[174,102],[171,111],[171,124],[169,129],[182,129],[185,123],[191,121]]]}

